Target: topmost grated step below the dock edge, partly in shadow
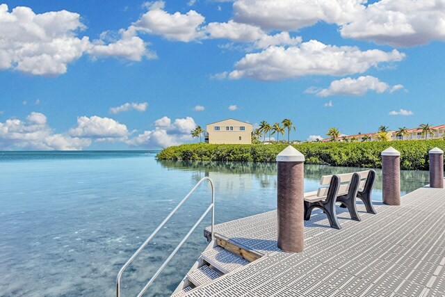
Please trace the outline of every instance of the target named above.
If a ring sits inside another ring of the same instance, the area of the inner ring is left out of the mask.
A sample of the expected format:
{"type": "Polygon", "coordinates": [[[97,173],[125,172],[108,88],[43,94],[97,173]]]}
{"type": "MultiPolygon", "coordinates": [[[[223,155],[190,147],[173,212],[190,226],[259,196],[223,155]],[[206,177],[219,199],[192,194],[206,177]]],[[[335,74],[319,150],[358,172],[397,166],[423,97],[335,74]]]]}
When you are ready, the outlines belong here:
{"type": "Polygon", "coordinates": [[[220,246],[203,252],[202,259],[224,274],[249,264],[248,260],[220,246]]]}

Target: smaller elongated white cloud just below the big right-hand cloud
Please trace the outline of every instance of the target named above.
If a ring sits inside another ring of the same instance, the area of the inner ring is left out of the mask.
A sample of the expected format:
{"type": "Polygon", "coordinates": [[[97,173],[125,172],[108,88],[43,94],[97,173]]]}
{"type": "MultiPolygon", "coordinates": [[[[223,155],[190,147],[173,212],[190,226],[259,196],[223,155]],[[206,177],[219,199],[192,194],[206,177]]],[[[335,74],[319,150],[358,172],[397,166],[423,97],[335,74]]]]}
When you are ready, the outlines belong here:
{"type": "MultiPolygon", "coordinates": [[[[369,90],[374,90],[377,93],[383,93],[387,90],[394,92],[394,90],[403,88],[402,85],[397,85],[396,89],[394,89],[394,87],[391,88],[388,83],[380,81],[377,77],[367,75],[357,79],[346,77],[344,79],[332,81],[329,88],[318,90],[315,93],[320,97],[332,95],[364,95],[369,90]]],[[[307,90],[307,93],[309,93],[309,89],[307,90]]]]}

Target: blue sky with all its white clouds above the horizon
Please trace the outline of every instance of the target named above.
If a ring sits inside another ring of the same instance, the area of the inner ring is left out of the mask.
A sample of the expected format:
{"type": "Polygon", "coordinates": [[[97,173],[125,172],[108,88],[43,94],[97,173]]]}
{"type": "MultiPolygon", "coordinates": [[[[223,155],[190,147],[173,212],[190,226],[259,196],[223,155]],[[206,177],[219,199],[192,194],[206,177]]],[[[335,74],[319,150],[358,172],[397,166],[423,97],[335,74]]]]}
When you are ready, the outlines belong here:
{"type": "Polygon", "coordinates": [[[0,1],[0,150],[156,150],[445,124],[443,0],[0,1]]]}

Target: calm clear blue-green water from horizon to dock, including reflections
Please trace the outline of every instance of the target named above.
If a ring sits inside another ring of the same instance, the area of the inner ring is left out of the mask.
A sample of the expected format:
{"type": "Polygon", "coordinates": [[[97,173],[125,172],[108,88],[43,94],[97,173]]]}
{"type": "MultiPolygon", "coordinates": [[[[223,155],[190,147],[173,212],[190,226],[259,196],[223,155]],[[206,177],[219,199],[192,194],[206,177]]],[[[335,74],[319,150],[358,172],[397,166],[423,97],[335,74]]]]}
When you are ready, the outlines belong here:
{"type": "MultiPolygon", "coordinates": [[[[154,152],[0,152],[0,296],[115,296],[115,277],[163,218],[204,176],[216,186],[216,223],[275,209],[275,163],[158,161],[154,152]]],[[[356,168],[305,166],[321,175],[356,168]]],[[[381,200],[381,172],[373,198],[381,200]]],[[[403,171],[402,191],[428,183],[403,171]]],[[[211,200],[203,184],[127,268],[135,296],[211,200]]],[[[169,296],[207,245],[197,228],[146,296],[169,296]]]]}

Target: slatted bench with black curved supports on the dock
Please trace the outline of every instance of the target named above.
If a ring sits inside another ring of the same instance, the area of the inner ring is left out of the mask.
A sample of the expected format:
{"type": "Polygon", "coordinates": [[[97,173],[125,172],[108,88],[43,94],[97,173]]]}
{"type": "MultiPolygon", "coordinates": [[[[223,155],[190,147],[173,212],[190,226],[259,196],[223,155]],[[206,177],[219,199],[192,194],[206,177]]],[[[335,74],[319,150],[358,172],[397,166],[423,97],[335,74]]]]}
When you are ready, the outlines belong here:
{"type": "Polygon", "coordinates": [[[326,214],[330,226],[341,229],[335,203],[340,202],[341,207],[346,207],[353,220],[361,220],[357,212],[356,198],[364,202],[367,212],[376,214],[371,201],[374,180],[374,170],[324,175],[320,182],[324,187],[305,193],[305,220],[309,220],[314,208],[320,208],[326,214]]]}

